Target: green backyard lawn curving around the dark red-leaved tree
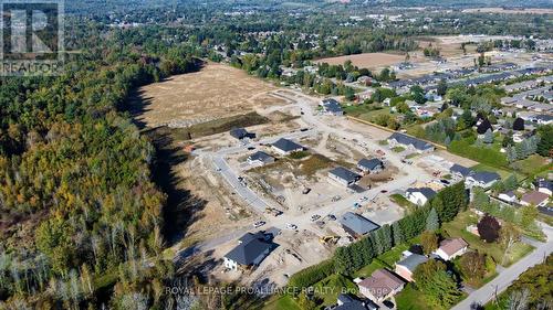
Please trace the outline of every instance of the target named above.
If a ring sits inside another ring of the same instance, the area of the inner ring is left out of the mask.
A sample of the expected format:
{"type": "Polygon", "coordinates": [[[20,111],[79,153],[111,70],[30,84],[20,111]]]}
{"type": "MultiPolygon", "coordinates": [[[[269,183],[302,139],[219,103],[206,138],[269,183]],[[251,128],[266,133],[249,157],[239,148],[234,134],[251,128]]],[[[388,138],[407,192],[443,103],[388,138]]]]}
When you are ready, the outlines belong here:
{"type": "Polygon", "coordinates": [[[471,249],[476,249],[479,253],[490,255],[497,264],[504,267],[510,266],[514,261],[519,260],[526,254],[529,254],[533,247],[523,243],[517,243],[512,246],[510,254],[503,261],[504,250],[497,243],[486,243],[480,239],[479,236],[467,232],[467,226],[470,224],[476,224],[478,216],[470,211],[460,213],[453,221],[445,223],[442,226],[444,232],[450,237],[462,237],[471,249]]]}

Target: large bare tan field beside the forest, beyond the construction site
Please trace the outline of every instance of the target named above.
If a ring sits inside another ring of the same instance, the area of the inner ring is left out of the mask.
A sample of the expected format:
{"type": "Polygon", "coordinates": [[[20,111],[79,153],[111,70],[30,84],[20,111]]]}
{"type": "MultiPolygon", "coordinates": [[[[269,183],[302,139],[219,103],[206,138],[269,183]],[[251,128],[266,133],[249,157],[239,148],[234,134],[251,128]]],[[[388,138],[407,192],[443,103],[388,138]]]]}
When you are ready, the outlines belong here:
{"type": "Polygon", "coordinates": [[[135,118],[146,127],[188,127],[282,104],[267,95],[273,89],[241,70],[208,63],[200,72],[139,88],[131,105],[135,118]]]}

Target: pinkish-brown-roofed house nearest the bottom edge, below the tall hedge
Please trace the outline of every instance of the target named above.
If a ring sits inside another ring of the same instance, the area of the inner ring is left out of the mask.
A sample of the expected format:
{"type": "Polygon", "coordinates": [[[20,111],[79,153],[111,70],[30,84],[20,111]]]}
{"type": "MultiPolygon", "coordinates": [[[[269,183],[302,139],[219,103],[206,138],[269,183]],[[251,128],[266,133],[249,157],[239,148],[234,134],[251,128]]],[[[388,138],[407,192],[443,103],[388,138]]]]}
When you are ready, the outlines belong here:
{"type": "Polygon", "coordinates": [[[358,282],[359,292],[371,300],[383,302],[404,289],[405,282],[386,269],[377,269],[369,278],[358,282]]]}

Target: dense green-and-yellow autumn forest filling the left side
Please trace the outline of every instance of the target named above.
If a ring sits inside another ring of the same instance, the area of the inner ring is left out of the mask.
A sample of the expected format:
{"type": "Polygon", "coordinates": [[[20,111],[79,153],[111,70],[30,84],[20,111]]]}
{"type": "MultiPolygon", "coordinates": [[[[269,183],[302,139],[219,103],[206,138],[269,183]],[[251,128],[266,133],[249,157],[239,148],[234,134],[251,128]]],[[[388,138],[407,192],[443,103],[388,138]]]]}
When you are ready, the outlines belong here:
{"type": "Polygon", "coordinates": [[[154,148],[119,109],[134,87],[198,62],[186,44],[148,55],[122,35],[134,33],[81,42],[62,76],[1,83],[0,303],[161,302],[173,268],[161,258],[166,197],[150,178],[154,148]]]}

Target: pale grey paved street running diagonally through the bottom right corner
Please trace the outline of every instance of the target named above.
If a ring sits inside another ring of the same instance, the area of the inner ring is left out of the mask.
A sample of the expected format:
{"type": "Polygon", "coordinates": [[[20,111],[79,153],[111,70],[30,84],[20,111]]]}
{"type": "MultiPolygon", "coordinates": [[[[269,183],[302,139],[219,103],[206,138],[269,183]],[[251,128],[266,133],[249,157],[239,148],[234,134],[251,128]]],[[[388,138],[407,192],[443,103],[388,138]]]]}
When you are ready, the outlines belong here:
{"type": "MultiPolygon", "coordinates": [[[[470,304],[486,304],[492,300],[495,295],[500,295],[505,290],[522,272],[528,268],[543,263],[545,257],[553,252],[553,227],[542,224],[543,232],[547,235],[546,243],[540,243],[531,254],[526,255],[521,260],[505,268],[493,280],[473,291],[467,299],[453,307],[453,310],[470,309],[470,304]]],[[[535,243],[534,243],[535,244],[535,243]]]]}

